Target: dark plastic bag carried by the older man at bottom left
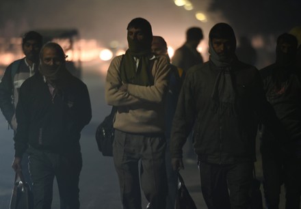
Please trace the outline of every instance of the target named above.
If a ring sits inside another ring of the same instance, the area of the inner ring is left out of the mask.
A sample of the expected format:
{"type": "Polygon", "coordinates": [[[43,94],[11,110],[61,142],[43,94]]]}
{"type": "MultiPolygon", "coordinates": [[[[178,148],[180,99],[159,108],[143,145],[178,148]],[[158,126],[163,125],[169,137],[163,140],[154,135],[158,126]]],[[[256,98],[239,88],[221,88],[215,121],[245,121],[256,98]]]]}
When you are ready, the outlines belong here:
{"type": "Polygon", "coordinates": [[[30,186],[25,182],[22,173],[16,173],[14,177],[14,189],[10,199],[10,209],[33,209],[34,196],[30,186]]]}

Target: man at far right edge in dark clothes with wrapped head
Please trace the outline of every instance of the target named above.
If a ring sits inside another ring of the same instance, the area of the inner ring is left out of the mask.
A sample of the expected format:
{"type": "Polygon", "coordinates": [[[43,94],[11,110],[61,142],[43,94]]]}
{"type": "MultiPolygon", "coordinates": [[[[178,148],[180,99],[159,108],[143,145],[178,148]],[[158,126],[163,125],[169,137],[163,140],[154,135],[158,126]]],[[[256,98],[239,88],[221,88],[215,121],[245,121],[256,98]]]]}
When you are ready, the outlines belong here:
{"type": "Polygon", "coordinates": [[[300,208],[301,74],[296,67],[297,47],[295,36],[281,34],[277,39],[275,63],[260,70],[267,100],[289,134],[280,146],[271,143],[273,135],[264,126],[262,129],[263,188],[269,209],[279,208],[280,187],[283,183],[285,208],[300,208]]]}

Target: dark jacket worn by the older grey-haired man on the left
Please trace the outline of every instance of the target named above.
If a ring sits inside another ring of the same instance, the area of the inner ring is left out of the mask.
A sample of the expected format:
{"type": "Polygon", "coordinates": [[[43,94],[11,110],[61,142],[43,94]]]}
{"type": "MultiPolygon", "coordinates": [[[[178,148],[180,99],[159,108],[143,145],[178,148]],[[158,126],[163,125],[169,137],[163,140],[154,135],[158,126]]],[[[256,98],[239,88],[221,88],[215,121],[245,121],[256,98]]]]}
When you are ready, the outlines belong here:
{"type": "Polygon", "coordinates": [[[67,73],[53,100],[39,72],[21,86],[16,107],[15,156],[22,156],[27,143],[47,152],[79,152],[81,130],[92,117],[90,97],[86,85],[67,73]]]}

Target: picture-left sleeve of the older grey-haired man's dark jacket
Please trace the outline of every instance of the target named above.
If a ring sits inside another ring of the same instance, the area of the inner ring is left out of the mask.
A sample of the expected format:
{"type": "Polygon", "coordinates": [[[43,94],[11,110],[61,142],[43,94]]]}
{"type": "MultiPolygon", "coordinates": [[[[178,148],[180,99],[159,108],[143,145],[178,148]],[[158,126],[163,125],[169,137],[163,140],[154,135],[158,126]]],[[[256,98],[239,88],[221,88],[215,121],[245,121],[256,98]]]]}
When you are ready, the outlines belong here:
{"type": "Polygon", "coordinates": [[[25,86],[22,85],[18,94],[18,104],[16,105],[16,135],[14,136],[14,150],[16,157],[22,157],[27,149],[29,131],[29,108],[27,105],[27,94],[25,86]]]}

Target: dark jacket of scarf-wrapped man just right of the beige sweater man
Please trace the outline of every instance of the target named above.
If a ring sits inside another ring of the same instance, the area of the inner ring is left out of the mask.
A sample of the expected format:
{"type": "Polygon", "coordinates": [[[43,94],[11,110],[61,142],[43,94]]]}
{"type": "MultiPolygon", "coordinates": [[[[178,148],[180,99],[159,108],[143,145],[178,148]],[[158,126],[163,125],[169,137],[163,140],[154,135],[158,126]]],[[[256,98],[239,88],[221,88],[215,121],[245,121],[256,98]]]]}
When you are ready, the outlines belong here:
{"type": "Polygon", "coordinates": [[[219,70],[207,61],[186,75],[172,126],[172,158],[182,157],[181,148],[193,125],[198,158],[219,164],[254,161],[259,119],[269,128],[279,127],[273,122],[276,116],[265,99],[259,71],[240,61],[235,61],[231,70],[237,115],[213,112],[211,94],[219,70]]]}

